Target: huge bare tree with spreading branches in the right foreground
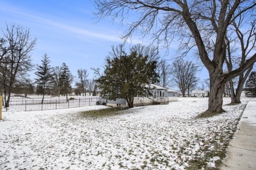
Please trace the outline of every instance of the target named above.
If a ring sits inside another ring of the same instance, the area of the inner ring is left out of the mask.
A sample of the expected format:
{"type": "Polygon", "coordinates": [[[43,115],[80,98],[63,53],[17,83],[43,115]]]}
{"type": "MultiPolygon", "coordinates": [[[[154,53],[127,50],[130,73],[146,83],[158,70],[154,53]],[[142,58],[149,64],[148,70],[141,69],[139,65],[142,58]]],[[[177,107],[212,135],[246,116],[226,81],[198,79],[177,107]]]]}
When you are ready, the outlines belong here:
{"type": "Polygon", "coordinates": [[[98,18],[110,16],[115,20],[121,17],[123,21],[127,13],[133,12],[132,17],[128,18],[131,23],[123,35],[124,40],[135,33],[140,33],[142,37],[151,34],[153,41],[166,48],[175,38],[179,38],[188,50],[196,47],[203,65],[209,71],[209,103],[205,113],[224,112],[224,84],[244,73],[256,61],[256,54],[251,54],[239,67],[223,73],[226,58],[224,40],[228,27],[244,12],[253,14],[255,1],[95,0],[95,4],[98,18]]]}

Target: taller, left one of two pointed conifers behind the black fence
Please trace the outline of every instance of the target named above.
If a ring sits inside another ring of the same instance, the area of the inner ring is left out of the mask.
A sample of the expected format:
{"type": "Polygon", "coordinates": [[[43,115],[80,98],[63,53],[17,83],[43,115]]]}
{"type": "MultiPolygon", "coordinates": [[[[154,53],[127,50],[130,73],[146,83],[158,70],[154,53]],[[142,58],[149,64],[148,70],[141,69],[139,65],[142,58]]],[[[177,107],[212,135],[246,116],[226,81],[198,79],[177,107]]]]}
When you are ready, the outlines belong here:
{"type": "Polygon", "coordinates": [[[43,56],[43,59],[41,60],[42,64],[37,65],[37,71],[35,72],[35,75],[37,75],[37,78],[35,78],[35,83],[41,86],[41,94],[43,95],[43,99],[45,97],[45,92],[49,90],[49,87],[51,86],[51,83],[53,82],[53,68],[50,65],[49,57],[47,57],[47,54],[43,56]]]}

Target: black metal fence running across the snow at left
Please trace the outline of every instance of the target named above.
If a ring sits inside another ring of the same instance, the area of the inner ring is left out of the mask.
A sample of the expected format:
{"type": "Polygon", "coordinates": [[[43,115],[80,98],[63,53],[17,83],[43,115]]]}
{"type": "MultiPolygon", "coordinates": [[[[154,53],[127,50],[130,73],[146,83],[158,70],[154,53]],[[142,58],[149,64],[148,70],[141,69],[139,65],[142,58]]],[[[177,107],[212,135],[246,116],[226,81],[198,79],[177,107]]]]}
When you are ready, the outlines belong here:
{"type": "Polygon", "coordinates": [[[19,112],[19,111],[33,111],[33,110],[53,110],[53,109],[69,109],[75,107],[84,107],[90,105],[98,105],[99,97],[85,97],[79,99],[45,99],[43,103],[38,99],[22,99],[11,100],[9,108],[3,111],[19,112]]]}

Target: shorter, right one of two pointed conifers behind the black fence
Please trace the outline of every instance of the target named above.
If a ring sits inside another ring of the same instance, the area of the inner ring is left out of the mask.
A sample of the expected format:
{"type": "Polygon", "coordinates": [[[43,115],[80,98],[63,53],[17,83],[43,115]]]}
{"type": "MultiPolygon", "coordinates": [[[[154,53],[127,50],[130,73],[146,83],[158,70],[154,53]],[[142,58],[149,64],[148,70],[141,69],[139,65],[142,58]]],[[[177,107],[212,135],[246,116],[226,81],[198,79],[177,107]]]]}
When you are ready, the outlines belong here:
{"type": "Polygon", "coordinates": [[[66,63],[62,63],[60,69],[60,78],[58,86],[60,86],[60,93],[66,95],[66,100],[68,101],[68,93],[72,91],[71,83],[73,81],[73,76],[70,73],[70,69],[66,63]]]}

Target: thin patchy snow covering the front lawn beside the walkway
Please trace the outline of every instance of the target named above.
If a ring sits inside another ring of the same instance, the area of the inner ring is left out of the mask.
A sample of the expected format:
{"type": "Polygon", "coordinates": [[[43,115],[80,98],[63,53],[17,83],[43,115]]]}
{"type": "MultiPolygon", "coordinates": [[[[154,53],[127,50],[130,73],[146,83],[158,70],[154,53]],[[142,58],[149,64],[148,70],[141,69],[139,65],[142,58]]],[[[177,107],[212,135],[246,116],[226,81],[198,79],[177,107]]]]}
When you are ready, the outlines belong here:
{"type": "MultiPolygon", "coordinates": [[[[229,103],[224,99],[224,104],[229,103]]],[[[207,98],[83,116],[104,106],[3,112],[0,169],[184,169],[215,167],[247,101],[196,118],[207,98]]]]}

